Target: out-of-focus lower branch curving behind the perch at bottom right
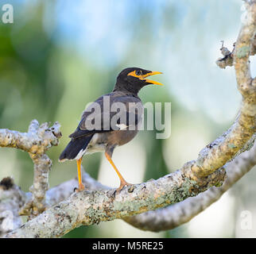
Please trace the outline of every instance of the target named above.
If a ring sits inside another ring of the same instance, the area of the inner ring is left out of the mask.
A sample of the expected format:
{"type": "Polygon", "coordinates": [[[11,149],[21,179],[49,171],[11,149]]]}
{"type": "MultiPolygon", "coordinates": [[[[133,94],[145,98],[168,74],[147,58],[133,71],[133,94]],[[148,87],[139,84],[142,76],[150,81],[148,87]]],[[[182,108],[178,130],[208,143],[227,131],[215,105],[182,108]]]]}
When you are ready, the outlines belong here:
{"type": "Polygon", "coordinates": [[[256,144],[247,152],[243,152],[225,166],[227,179],[222,187],[211,187],[208,191],[198,194],[196,197],[187,198],[183,202],[168,206],[164,209],[149,211],[124,220],[134,227],[142,230],[159,232],[161,230],[174,229],[190,221],[197,214],[211,206],[221,196],[242,178],[256,164],[256,144]]]}

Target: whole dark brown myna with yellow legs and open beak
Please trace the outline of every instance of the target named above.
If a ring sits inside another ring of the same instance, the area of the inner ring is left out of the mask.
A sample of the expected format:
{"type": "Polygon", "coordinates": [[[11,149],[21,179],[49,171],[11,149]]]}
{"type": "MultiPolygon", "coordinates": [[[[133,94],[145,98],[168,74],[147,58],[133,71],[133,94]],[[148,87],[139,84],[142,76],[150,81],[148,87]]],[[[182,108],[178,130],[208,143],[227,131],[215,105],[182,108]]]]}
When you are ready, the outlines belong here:
{"type": "Polygon", "coordinates": [[[76,131],[69,136],[71,141],[59,158],[60,161],[76,160],[78,191],[84,189],[81,175],[83,155],[93,152],[105,152],[107,160],[114,167],[120,179],[118,190],[130,185],[114,165],[111,156],[114,148],[128,143],[138,133],[138,125],[142,122],[143,114],[142,101],[138,97],[138,91],[149,84],[162,85],[146,79],[156,74],[161,74],[161,72],[147,71],[138,67],[128,67],[122,70],[118,75],[114,90],[110,94],[99,97],[83,111],[80,124],[76,131]]]}

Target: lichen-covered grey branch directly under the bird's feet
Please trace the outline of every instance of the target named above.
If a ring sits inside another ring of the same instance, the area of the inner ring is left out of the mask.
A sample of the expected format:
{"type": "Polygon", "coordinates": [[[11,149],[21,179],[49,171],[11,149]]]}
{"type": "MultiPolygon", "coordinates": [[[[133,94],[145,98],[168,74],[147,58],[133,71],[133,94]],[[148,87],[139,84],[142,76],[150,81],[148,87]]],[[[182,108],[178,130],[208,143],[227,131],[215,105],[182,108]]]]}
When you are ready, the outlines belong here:
{"type": "Polygon", "coordinates": [[[109,190],[72,194],[6,237],[60,237],[80,225],[111,221],[180,202],[223,182],[225,171],[220,169],[197,183],[189,178],[190,166],[185,164],[180,171],[125,187],[119,193],[109,190]]]}

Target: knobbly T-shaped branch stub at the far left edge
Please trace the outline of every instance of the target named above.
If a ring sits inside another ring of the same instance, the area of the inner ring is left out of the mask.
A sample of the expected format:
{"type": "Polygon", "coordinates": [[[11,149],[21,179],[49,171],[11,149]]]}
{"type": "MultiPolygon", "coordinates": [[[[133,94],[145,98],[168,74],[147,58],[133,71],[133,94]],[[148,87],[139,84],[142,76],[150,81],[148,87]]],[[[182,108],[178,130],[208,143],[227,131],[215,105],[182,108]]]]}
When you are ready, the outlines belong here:
{"type": "Polygon", "coordinates": [[[20,133],[9,129],[0,129],[0,147],[19,148],[29,152],[33,160],[34,178],[31,199],[21,208],[21,215],[29,215],[29,219],[36,217],[45,210],[45,192],[48,190],[48,172],[52,161],[45,152],[52,145],[57,145],[60,124],[56,122],[51,128],[48,123],[39,125],[37,120],[30,122],[28,133],[20,133]]]}

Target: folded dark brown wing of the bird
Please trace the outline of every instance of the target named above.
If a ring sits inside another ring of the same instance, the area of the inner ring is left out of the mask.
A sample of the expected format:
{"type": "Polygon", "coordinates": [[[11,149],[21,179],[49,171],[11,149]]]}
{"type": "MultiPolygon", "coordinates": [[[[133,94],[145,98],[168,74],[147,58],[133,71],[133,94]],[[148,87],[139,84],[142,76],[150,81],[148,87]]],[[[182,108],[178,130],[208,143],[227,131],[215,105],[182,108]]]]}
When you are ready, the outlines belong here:
{"type": "Polygon", "coordinates": [[[140,98],[123,92],[113,92],[98,98],[83,111],[72,139],[94,133],[106,133],[126,129],[142,121],[143,106],[140,98]]]}

